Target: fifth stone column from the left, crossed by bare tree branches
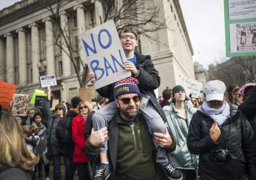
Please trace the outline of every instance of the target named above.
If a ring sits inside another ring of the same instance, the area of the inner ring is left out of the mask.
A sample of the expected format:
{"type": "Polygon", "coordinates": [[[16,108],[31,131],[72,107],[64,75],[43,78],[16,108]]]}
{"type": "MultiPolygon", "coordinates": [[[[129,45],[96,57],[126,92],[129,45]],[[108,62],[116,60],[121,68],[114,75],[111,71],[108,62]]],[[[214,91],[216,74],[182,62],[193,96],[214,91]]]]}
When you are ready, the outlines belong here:
{"type": "MultiPolygon", "coordinates": [[[[64,36],[68,37],[69,36],[68,15],[65,11],[62,11],[60,13],[60,22],[61,22],[61,29],[64,33],[64,36]]],[[[71,62],[70,62],[70,58],[68,57],[70,53],[68,51],[67,43],[64,40],[65,37],[62,37],[61,55],[62,55],[63,76],[68,76],[71,74],[71,62]]]]}

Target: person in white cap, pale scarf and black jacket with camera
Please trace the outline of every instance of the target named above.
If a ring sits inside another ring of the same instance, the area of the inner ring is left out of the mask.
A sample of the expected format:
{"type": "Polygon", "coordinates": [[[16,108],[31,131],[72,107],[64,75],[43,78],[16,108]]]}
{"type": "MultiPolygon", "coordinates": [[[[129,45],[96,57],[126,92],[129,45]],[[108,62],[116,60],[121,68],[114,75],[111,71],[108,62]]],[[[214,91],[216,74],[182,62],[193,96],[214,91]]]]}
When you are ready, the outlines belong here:
{"type": "Polygon", "coordinates": [[[187,145],[199,155],[200,179],[244,180],[253,176],[253,130],[246,117],[237,110],[230,116],[224,100],[226,87],[220,80],[205,83],[205,101],[192,117],[187,145]]]}

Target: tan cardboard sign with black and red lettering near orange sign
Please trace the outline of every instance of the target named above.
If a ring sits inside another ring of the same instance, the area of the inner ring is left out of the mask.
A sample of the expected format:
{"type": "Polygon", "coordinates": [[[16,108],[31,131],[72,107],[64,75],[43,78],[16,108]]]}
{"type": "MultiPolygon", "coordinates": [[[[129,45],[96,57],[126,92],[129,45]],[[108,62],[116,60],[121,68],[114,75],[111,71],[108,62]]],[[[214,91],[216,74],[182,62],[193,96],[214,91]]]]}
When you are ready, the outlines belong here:
{"type": "Polygon", "coordinates": [[[27,116],[28,102],[28,94],[13,94],[12,114],[19,116],[27,116]]]}

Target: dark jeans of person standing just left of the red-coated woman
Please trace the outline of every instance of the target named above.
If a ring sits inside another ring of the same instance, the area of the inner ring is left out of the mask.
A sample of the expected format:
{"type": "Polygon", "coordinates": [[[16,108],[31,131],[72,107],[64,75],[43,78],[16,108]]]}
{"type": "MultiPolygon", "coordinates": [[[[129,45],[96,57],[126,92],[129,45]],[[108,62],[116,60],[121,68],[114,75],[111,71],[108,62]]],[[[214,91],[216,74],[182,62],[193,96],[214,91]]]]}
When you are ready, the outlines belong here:
{"type": "Polygon", "coordinates": [[[65,176],[66,180],[73,180],[74,174],[77,169],[76,163],[72,161],[72,156],[63,156],[64,158],[64,165],[65,165],[65,176]]]}

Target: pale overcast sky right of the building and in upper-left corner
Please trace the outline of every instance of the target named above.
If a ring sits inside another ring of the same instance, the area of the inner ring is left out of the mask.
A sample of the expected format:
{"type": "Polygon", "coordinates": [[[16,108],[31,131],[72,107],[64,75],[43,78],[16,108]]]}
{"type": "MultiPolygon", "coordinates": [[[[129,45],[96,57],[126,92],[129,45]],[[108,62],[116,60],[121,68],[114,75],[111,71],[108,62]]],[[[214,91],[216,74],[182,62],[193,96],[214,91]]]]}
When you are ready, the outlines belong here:
{"type": "MultiPolygon", "coordinates": [[[[176,0],[175,0],[176,1],[176,0]]],[[[207,68],[225,57],[223,0],[179,0],[195,55],[207,68]]],[[[17,0],[0,0],[0,10],[17,0]]]]}

